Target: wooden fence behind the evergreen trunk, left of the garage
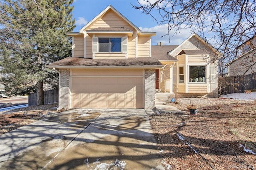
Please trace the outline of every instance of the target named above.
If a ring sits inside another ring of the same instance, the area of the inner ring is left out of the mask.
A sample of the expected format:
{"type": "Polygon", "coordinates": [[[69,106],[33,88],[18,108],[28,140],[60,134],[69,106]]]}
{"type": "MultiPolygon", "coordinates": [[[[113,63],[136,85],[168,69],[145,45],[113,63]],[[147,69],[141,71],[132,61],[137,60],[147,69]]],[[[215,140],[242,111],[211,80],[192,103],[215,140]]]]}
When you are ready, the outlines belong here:
{"type": "MultiPolygon", "coordinates": [[[[44,91],[44,104],[58,102],[58,89],[44,91]]],[[[37,93],[28,95],[28,106],[36,106],[37,93]]]]}

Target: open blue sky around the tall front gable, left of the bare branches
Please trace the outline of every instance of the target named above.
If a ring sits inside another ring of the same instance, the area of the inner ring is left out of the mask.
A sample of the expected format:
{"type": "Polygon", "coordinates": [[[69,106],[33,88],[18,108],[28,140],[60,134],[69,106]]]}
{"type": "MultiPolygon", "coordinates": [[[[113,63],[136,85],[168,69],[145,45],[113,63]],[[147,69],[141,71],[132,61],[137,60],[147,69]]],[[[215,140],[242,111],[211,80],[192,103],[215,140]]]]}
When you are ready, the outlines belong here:
{"type": "Polygon", "coordinates": [[[163,42],[164,45],[178,45],[193,34],[192,31],[185,29],[181,30],[180,34],[171,32],[169,43],[169,37],[164,36],[167,33],[167,26],[158,26],[150,15],[132,8],[132,4],[138,5],[137,0],[74,0],[73,18],[76,19],[74,32],[78,32],[102,10],[111,5],[142,31],[156,32],[156,36],[152,37],[152,45],[156,45],[158,42],[163,42]],[[161,36],[164,37],[160,38],[161,36]]]}

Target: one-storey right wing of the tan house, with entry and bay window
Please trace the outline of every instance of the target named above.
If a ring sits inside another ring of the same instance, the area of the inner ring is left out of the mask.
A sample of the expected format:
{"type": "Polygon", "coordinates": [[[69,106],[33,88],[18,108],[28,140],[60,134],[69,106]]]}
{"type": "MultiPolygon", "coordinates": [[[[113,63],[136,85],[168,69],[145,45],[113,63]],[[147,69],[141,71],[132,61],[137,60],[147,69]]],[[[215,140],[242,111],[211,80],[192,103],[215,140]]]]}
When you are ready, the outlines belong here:
{"type": "Polygon", "coordinates": [[[197,34],[180,45],[152,46],[152,57],[164,67],[156,69],[156,89],[181,96],[218,95],[218,51],[197,34]]]}

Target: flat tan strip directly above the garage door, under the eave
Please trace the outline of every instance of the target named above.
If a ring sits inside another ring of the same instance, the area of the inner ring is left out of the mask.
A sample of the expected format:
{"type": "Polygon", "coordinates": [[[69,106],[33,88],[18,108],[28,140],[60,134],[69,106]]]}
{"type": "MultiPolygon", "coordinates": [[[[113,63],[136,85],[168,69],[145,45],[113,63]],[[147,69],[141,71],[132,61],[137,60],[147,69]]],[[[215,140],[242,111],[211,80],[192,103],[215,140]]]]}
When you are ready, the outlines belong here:
{"type": "Polygon", "coordinates": [[[142,69],[72,69],[72,76],[143,76],[142,69]]]}

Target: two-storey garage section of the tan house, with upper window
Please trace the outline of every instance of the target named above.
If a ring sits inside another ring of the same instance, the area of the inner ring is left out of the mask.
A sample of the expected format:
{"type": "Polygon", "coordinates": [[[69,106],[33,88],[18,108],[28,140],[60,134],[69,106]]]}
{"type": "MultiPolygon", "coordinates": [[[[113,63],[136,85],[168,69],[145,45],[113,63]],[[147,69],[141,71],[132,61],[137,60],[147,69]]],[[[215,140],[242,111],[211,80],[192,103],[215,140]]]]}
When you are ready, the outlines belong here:
{"type": "Polygon", "coordinates": [[[48,65],[59,72],[59,108],[144,108],[155,106],[151,36],[112,6],[72,36],[72,57],[48,65]]]}

